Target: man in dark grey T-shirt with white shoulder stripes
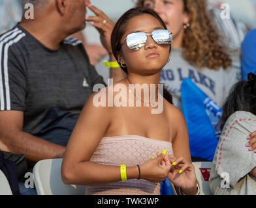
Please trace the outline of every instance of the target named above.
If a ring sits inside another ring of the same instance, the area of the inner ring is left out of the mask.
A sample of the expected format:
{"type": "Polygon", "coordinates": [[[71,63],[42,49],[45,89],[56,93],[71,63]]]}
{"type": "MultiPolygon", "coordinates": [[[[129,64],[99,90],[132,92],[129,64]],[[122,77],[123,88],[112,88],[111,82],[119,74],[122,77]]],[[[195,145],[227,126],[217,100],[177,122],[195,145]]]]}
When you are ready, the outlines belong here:
{"type": "Polygon", "coordinates": [[[110,42],[112,23],[89,0],[22,3],[33,4],[34,19],[23,15],[0,36],[0,149],[25,154],[33,167],[63,157],[93,86],[105,85],[82,42],[67,36],[86,27],[87,7],[101,19],[95,25],[103,45],[110,42]]]}

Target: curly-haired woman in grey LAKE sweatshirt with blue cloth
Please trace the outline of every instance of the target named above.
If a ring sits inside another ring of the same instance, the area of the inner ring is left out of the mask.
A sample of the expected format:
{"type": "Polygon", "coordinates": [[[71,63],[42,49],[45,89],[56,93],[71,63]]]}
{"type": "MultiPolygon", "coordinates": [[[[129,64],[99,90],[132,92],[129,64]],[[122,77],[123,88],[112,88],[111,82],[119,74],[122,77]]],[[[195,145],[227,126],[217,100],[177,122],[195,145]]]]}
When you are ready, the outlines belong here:
{"type": "MultiPolygon", "coordinates": [[[[229,89],[238,79],[235,64],[231,67],[231,53],[223,43],[224,38],[217,31],[214,19],[208,14],[206,0],[138,0],[137,6],[153,8],[163,19],[167,29],[172,31],[170,62],[163,67],[160,83],[165,84],[172,94],[174,106],[184,112],[189,129],[192,161],[212,161],[217,138],[214,131],[208,136],[205,129],[215,127],[219,119],[205,109],[204,103],[199,102],[198,98],[189,103],[182,101],[182,97],[185,99],[189,94],[185,88],[187,80],[184,82],[184,79],[189,77],[219,107],[222,107],[229,89]],[[190,116],[191,109],[200,107],[202,114],[209,118],[204,118],[204,123],[190,116]],[[209,127],[205,128],[204,125],[209,127]],[[200,126],[200,131],[193,131],[195,126],[200,126]],[[207,141],[204,135],[211,139],[207,141]]],[[[216,133],[218,131],[216,129],[216,133]]]]}

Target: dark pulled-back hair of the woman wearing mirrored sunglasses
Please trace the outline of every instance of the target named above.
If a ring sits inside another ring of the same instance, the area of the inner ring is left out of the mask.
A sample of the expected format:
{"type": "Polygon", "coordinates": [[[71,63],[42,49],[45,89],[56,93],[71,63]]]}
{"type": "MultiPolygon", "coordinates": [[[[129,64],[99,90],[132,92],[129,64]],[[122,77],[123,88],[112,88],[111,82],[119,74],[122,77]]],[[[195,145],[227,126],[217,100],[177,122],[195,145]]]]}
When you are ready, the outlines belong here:
{"type": "MultiPolygon", "coordinates": [[[[123,14],[120,19],[118,19],[111,34],[111,47],[116,60],[118,60],[118,55],[121,52],[121,37],[125,33],[125,27],[127,25],[127,22],[129,21],[129,19],[134,18],[136,16],[140,16],[142,14],[152,15],[153,17],[158,19],[158,21],[161,23],[161,25],[163,25],[165,29],[167,29],[167,26],[165,25],[164,21],[160,18],[160,16],[154,10],[150,8],[145,8],[142,6],[131,8],[130,10],[125,12],[125,14],[123,14]]],[[[170,49],[171,49],[171,46],[170,46],[170,49]]],[[[127,68],[123,68],[120,62],[118,62],[118,64],[120,65],[120,68],[125,73],[128,73],[127,68]]],[[[168,92],[168,90],[165,87],[163,88],[163,97],[167,99],[169,103],[172,104],[172,95],[168,92]]]]}

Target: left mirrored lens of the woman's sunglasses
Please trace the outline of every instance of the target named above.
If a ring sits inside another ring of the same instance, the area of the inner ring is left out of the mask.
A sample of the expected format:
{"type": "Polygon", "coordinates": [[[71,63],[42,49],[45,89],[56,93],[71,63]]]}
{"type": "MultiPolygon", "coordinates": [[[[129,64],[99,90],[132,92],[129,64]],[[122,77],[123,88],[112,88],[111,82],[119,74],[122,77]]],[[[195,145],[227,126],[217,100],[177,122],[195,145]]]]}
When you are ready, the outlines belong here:
{"type": "Polygon", "coordinates": [[[131,34],[128,34],[126,43],[129,49],[132,49],[134,51],[140,49],[143,45],[146,44],[147,36],[144,32],[134,32],[131,34]]]}

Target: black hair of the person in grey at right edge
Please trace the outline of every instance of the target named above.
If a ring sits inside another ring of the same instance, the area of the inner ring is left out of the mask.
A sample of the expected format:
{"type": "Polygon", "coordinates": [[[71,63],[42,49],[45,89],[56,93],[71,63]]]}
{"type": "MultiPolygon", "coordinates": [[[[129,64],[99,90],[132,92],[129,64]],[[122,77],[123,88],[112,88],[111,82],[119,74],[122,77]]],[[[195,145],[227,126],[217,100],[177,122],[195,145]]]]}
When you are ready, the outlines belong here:
{"type": "Polygon", "coordinates": [[[256,75],[253,73],[248,74],[248,80],[239,81],[232,86],[223,105],[223,114],[219,122],[221,130],[229,116],[239,110],[256,115],[256,75]]]}

